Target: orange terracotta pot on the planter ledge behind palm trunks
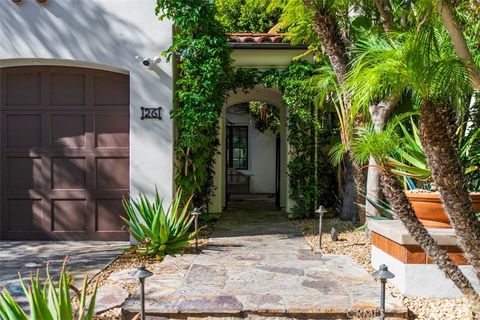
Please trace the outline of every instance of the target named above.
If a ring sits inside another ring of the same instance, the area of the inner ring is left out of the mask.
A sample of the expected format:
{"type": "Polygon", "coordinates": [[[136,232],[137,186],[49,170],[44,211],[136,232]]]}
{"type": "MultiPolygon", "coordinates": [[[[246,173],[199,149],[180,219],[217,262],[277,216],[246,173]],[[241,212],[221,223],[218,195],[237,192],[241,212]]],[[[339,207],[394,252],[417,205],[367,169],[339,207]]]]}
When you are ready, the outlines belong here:
{"type": "MultiPolygon", "coordinates": [[[[440,193],[415,193],[405,191],[420,222],[429,228],[451,228],[450,220],[443,210],[440,193]]],[[[480,193],[470,194],[473,209],[480,211],[480,193]]]]}

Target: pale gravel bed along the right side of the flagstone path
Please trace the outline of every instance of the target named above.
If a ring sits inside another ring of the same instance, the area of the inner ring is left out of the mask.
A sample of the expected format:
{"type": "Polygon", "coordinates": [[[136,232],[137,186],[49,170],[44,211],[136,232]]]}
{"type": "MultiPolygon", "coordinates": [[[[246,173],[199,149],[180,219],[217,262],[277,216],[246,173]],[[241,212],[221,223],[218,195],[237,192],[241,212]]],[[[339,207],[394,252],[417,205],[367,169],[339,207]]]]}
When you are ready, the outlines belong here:
{"type": "MultiPolygon", "coordinates": [[[[312,250],[318,251],[318,218],[293,220],[297,228],[303,232],[312,250]]],[[[368,272],[375,271],[370,265],[370,242],[363,231],[355,231],[352,223],[339,219],[325,219],[323,230],[334,227],[338,233],[338,241],[332,241],[330,234],[324,231],[322,236],[322,252],[351,256],[368,272]]],[[[423,299],[409,298],[402,295],[393,285],[388,284],[390,293],[402,300],[409,309],[410,319],[421,320],[470,320],[468,304],[464,299],[423,299]]]]}

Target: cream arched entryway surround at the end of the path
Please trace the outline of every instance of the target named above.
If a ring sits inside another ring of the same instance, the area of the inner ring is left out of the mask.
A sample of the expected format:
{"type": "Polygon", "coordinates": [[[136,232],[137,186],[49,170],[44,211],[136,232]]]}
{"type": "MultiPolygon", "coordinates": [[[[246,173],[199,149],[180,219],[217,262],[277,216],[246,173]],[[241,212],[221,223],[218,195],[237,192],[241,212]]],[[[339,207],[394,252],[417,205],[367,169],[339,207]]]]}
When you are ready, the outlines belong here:
{"type": "MultiPolygon", "coordinates": [[[[279,207],[285,211],[289,211],[292,207],[291,201],[288,200],[288,175],[287,175],[287,163],[288,163],[288,143],[287,143],[287,129],[286,129],[286,120],[287,120],[287,109],[282,102],[282,93],[278,88],[266,88],[262,85],[255,86],[252,90],[244,92],[238,90],[236,92],[231,92],[228,99],[225,101],[224,108],[222,111],[222,116],[220,119],[220,130],[219,130],[219,154],[215,159],[215,195],[212,197],[211,205],[209,211],[212,213],[221,212],[226,204],[226,189],[227,189],[227,120],[228,114],[227,110],[232,106],[241,105],[248,103],[250,101],[261,101],[266,104],[275,106],[279,110],[280,114],[280,127],[278,129],[280,146],[279,146],[279,163],[276,163],[276,154],[272,154],[269,161],[275,169],[278,165],[278,178],[279,178],[279,193],[278,193],[278,204],[279,207]]],[[[252,161],[253,159],[250,159],[252,161]]],[[[265,159],[262,159],[265,161],[265,159]]],[[[276,173],[276,170],[273,171],[276,173]]]]}

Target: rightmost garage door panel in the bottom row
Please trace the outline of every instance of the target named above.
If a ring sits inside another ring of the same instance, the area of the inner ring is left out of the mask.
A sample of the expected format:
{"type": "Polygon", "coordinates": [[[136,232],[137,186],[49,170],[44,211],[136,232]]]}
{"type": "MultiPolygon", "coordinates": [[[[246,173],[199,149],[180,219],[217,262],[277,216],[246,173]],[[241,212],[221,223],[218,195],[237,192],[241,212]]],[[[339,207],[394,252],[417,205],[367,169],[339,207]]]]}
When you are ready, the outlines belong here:
{"type": "Polygon", "coordinates": [[[119,232],[125,223],[119,216],[125,217],[122,199],[96,199],[95,203],[95,231],[119,232]]]}

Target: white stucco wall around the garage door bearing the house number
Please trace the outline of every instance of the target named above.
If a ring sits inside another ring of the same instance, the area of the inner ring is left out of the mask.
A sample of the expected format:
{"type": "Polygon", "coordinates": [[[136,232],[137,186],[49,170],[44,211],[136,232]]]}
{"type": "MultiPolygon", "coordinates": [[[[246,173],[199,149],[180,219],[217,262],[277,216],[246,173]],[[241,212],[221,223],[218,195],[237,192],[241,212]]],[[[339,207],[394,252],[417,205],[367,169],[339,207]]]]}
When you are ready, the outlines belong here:
{"type": "Polygon", "coordinates": [[[135,59],[160,56],[171,44],[172,23],[159,21],[154,9],[153,0],[49,0],[44,5],[2,0],[0,66],[3,59],[47,58],[98,63],[128,72],[130,192],[151,194],[156,185],[168,203],[173,192],[172,66],[162,58],[152,71],[135,59]],[[140,120],[141,106],[161,106],[163,119],[140,120]]]}

